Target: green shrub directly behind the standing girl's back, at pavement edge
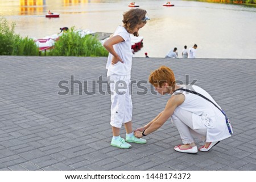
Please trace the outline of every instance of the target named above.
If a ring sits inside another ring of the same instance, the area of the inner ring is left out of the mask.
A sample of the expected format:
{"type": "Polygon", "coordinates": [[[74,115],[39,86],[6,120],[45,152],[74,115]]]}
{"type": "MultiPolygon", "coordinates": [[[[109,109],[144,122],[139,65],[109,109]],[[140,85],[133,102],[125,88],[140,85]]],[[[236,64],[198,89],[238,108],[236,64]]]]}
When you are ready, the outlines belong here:
{"type": "Polygon", "coordinates": [[[72,27],[56,41],[50,56],[108,56],[108,51],[101,45],[97,37],[86,35],[81,37],[72,27]]]}

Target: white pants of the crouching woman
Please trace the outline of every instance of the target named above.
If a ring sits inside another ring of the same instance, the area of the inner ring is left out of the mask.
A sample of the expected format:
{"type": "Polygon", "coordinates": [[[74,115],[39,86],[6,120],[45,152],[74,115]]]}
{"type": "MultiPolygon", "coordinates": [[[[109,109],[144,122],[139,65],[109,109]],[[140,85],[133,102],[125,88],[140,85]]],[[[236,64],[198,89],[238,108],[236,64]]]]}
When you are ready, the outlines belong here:
{"type": "Polygon", "coordinates": [[[207,129],[193,129],[192,112],[177,107],[171,116],[173,124],[180,133],[183,144],[194,142],[193,136],[206,140],[207,129]]]}

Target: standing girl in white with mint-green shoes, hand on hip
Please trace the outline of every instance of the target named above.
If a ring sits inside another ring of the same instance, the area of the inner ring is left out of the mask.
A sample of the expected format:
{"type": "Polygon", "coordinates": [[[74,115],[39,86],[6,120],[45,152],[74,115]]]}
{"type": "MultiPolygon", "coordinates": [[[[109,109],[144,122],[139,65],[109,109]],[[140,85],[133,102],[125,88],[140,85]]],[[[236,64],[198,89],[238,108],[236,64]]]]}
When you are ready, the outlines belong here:
{"type": "Polygon", "coordinates": [[[111,119],[113,138],[111,146],[121,149],[129,149],[131,145],[127,142],[146,143],[146,139],[136,138],[131,126],[133,104],[129,93],[131,78],[131,37],[139,36],[139,29],[144,27],[149,18],[147,11],[142,9],[131,9],[123,14],[123,26],[119,26],[113,36],[104,43],[109,52],[108,81],[111,90],[111,119]],[[125,124],[126,139],[120,137],[120,128],[125,124]]]}

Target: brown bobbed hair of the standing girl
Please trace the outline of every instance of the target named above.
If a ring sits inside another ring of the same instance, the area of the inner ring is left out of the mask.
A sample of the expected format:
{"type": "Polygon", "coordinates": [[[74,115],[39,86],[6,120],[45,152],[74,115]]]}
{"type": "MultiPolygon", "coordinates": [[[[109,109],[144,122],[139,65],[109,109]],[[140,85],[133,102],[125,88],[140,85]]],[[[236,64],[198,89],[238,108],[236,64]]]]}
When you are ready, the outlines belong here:
{"type": "MultiPolygon", "coordinates": [[[[123,14],[123,26],[127,29],[128,32],[133,31],[137,24],[147,23],[147,21],[144,20],[146,18],[146,14],[147,11],[143,9],[131,9],[126,11],[123,14]]],[[[135,32],[133,35],[138,37],[139,33],[135,32]]]]}

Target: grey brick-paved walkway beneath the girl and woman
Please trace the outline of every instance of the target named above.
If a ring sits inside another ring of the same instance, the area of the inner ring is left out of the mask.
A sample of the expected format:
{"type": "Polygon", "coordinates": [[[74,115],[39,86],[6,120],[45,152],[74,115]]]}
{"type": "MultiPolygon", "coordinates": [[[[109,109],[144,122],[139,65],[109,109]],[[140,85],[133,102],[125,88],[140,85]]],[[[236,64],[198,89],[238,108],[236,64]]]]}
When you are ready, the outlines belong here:
{"type": "Polygon", "coordinates": [[[143,83],[161,65],[179,81],[196,80],[230,117],[234,136],[197,155],[174,151],[181,140],[170,120],[145,137],[146,145],[111,147],[110,95],[100,94],[106,84],[85,94],[92,81],[106,79],[105,64],[102,57],[0,56],[1,170],[256,170],[256,60],[134,58],[132,79],[140,83],[133,84],[134,129],[169,97],[143,83]]]}

